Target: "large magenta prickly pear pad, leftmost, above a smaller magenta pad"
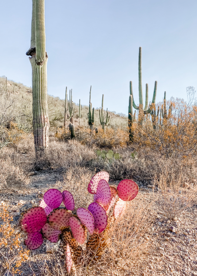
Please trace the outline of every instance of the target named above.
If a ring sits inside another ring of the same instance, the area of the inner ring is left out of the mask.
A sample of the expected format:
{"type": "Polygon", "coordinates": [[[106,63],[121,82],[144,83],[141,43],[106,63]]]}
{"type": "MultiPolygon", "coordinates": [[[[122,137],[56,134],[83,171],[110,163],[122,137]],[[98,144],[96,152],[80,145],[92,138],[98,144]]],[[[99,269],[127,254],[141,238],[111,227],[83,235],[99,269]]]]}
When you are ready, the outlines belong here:
{"type": "Polygon", "coordinates": [[[46,223],[47,216],[41,207],[33,207],[23,214],[21,228],[27,233],[38,232],[46,223]]]}

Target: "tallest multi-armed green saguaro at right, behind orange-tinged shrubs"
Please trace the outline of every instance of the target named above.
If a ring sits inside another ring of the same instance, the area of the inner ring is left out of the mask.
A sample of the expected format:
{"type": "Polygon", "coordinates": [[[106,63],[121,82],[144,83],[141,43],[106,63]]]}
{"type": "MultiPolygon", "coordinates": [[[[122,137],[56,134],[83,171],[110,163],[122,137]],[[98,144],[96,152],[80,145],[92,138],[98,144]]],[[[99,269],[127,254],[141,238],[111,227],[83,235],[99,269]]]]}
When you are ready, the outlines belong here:
{"type": "Polygon", "coordinates": [[[139,47],[139,63],[138,63],[138,74],[139,74],[139,106],[137,106],[134,102],[133,98],[133,90],[132,90],[132,81],[130,81],[130,94],[133,98],[133,107],[139,110],[138,121],[140,124],[143,123],[144,115],[150,113],[153,110],[156,99],[157,92],[157,81],[155,81],[155,88],[153,92],[153,99],[150,107],[148,108],[148,83],[146,84],[146,99],[145,99],[145,107],[143,107],[143,95],[142,95],[142,47],[139,47]]]}

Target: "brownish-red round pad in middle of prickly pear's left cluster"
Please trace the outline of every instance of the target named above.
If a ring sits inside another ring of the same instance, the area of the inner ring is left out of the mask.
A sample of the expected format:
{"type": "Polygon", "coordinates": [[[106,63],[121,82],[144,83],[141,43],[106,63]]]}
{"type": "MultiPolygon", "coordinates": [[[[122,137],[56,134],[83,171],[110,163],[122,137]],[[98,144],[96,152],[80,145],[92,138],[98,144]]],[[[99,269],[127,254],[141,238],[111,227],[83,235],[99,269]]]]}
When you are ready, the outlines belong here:
{"type": "Polygon", "coordinates": [[[71,213],[65,209],[57,208],[49,215],[49,224],[57,230],[63,230],[69,227],[71,213]]]}

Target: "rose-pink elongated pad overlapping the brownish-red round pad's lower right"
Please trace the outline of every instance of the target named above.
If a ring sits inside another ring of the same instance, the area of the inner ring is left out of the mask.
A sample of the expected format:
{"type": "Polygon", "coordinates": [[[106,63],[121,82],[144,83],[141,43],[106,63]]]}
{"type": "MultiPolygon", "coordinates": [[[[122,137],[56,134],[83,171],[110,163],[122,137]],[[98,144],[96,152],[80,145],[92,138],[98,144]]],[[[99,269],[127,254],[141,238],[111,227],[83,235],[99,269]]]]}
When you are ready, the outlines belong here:
{"type": "Polygon", "coordinates": [[[85,241],[85,231],[84,228],[76,217],[70,217],[70,228],[72,230],[73,237],[78,241],[78,243],[82,244],[85,241]]]}

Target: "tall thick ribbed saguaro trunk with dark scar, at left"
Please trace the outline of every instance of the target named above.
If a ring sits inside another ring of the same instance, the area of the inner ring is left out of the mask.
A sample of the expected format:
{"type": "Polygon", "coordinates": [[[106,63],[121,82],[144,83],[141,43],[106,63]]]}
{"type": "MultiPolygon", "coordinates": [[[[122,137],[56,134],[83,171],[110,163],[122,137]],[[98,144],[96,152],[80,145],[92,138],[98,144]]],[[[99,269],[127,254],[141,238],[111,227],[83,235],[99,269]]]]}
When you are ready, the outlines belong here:
{"type": "Polygon", "coordinates": [[[30,55],[33,91],[33,131],[36,153],[49,146],[47,60],[44,0],[33,0],[30,55]]]}

